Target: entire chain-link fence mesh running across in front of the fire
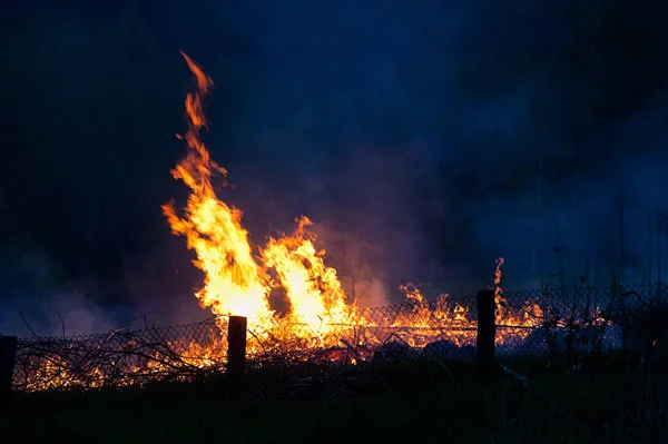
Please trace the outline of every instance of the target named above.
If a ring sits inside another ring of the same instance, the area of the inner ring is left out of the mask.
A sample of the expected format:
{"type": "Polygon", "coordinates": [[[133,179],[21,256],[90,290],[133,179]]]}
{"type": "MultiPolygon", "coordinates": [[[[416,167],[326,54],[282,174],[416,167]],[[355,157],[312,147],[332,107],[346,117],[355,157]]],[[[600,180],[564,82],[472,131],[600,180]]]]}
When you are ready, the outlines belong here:
{"type": "MultiPolygon", "coordinates": [[[[491,293],[491,292],[490,292],[491,293]]],[[[647,349],[668,338],[666,286],[493,294],[495,354],[573,356],[596,349],[647,349]]],[[[247,327],[247,368],[289,374],[415,359],[474,361],[477,296],[351,310],[312,319],[269,318],[247,327]]],[[[190,379],[219,373],[227,317],[174,327],[19,339],[14,389],[101,387],[190,379]]]]}

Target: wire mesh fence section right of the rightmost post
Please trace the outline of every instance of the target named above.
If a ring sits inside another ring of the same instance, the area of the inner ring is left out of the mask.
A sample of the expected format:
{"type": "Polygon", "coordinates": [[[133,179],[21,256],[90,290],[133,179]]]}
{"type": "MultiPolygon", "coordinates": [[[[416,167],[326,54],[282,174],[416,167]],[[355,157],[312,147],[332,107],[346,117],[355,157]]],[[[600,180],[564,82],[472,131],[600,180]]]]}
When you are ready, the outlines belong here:
{"type": "Polygon", "coordinates": [[[668,292],[666,285],[508,292],[497,318],[499,356],[647,352],[668,338],[668,292]]]}

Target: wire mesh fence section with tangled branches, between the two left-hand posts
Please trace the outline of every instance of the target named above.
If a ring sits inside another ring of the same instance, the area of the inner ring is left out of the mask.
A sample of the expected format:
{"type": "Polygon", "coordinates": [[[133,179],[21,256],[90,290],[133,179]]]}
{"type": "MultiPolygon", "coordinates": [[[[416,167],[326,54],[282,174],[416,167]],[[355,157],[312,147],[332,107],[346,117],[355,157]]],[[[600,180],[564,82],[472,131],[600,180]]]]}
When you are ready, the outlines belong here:
{"type": "Polygon", "coordinates": [[[224,367],[224,328],[225,323],[206,319],[88,336],[21,338],[12,385],[35,392],[187,379],[224,367]]]}

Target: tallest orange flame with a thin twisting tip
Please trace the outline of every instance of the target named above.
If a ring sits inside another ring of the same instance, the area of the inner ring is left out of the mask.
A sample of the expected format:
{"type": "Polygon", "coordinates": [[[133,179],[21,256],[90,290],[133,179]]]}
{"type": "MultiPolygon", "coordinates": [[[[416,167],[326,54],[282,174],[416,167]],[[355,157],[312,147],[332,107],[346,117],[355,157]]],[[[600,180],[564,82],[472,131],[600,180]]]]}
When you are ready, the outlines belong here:
{"type": "Polygon", "coordinates": [[[164,205],[163,211],[171,231],[185,236],[188,248],[197,254],[195,266],[206,276],[204,288],[196,293],[202,305],[217,315],[235,314],[259,322],[272,315],[267,277],[253,257],[248,233],[242,227],[242,211],[219,200],[214,191],[214,174],[225,177],[227,170],[212,160],[199,139],[199,130],[206,127],[203,100],[213,80],[188,56],[183,56],[197,79],[197,91],[186,96],[188,154],[171,175],[191,193],[184,218],[177,216],[174,203],[164,205]]]}

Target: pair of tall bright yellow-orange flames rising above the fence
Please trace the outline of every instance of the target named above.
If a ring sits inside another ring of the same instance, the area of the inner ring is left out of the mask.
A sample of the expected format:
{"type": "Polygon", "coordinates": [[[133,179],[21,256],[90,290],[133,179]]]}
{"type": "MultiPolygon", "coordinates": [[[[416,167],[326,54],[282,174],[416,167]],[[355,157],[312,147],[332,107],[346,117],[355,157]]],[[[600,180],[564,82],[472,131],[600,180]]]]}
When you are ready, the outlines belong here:
{"type": "Polygon", "coordinates": [[[197,255],[195,265],[205,273],[204,288],[196,293],[202,305],[215,315],[246,316],[255,329],[266,330],[276,323],[303,324],[302,336],[325,333],[323,328],[332,323],[354,320],[356,309],[347,305],[336,270],[324,264],[325,251],[315,247],[314,235],[306,230],[312,224],[307,217],[297,220],[293,235],[269,238],[254,256],[242,226],[242,210],[222,201],[212,184],[215,175],[225,178],[227,170],[210,158],[199,138],[200,129],[207,127],[203,103],[213,80],[181,55],[195,75],[197,89],[185,101],[188,154],[171,174],[190,188],[190,195],[183,217],[174,203],[164,205],[163,210],[173,233],[186,237],[188,248],[197,255]],[[268,302],[276,288],[289,304],[289,313],[281,318],[268,302]]]}

